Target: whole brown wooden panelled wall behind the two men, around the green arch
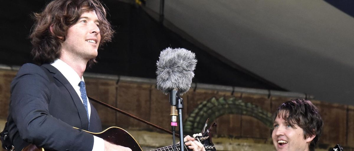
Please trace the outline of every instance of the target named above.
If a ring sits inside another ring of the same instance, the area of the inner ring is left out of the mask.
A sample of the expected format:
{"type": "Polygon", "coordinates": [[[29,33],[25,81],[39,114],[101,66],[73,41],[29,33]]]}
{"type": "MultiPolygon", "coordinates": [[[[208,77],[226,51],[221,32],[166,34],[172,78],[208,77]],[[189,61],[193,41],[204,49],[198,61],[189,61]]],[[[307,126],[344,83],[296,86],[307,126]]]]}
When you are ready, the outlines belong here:
{"type": "MultiPolygon", "coordinates": [[[[10,101],[10,84],[17,71],[0,71],[0,119],[6,119],[8,103],[10,101]]],[[[155,85],[143,83],[120,82],[115,80],[103,80],[86,78],[87,94],[110,105],[116,106],[142,119],[155,123],[166,129],[170,129],[170,104],[169,96],[156,90],[155,85]]],[[[268,96],[235,93],[217,90],[189,90],[182,96],[184,99],[184,119],[188,117],[199,103],[212,97],[225,99],[236,97],[243,102],[249,102],[261,107],[263,110],[273,113],[281,103],[288,101],[289,97],[268,96]]],[[[354,106],[331,104],[312,100],[320,109],[324,119],[324,129],[320,144],[339,143],[346,148],[354,147],[354,106]]],[[[98,110],[103,126],[119,126],[126,129],[149,129],[154,128],[139,121],[131,119],[120,113],[115,113],[99,104],[93,103],[98,110]]],[[[214,130],[218,136],[235,138],[264,139],[270,137],[270,130],[260,121],[246,115],[223,115],[216,119],[218,127],[214,130]]]]}

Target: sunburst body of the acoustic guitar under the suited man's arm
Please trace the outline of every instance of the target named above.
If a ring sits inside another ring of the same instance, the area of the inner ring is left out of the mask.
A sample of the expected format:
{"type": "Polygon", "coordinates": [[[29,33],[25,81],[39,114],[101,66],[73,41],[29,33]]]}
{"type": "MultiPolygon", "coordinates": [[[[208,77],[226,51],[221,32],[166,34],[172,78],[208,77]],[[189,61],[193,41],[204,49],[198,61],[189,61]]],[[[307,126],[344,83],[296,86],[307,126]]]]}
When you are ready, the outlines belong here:
{"type": "MultiPolygon", "coordinates": [[[[136,140],[127,131],[119,127],[109,127],[100,133],[91,133],[99,138],[109,141],[112,144],[129,147],[133,151],[143,151],[136,140]]],[[[22,151],[52,151],[37,147],[36,145],[28,145],[22,151]]]]}

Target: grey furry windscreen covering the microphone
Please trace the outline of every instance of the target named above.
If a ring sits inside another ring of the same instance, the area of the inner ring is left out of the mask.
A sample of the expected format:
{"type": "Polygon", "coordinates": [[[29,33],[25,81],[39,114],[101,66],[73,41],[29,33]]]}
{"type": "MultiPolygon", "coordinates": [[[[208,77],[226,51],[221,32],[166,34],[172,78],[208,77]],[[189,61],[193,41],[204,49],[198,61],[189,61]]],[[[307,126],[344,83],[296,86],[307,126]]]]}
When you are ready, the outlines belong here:
{"type": "Polygon", "coordinates": [[[192,84],[197,60],[195,54],[184,48],[166,48],[162,50],[156,62],[156,86],[166,95],[177,89],[181,95],[192,84]]]}

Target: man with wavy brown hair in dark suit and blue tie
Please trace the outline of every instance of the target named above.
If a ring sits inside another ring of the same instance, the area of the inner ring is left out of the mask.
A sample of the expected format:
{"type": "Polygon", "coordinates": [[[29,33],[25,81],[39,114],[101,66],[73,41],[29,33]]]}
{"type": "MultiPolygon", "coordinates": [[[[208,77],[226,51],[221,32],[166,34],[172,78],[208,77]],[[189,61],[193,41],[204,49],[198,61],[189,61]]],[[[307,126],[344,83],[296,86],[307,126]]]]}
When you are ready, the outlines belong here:
{"type": "MultiPolygon", "coordinates": [[[[131,151],[73,128],[102,131],[82,75],[113,36],[106,15],[98,0],[54,0],[34,13],[31,54],[40,66],[24,64],[11,83],[7,123],[15,150],[34,144],[57,151],[131,151]]],[[[194,138],[185,140],[193,151],[205,151],[194,138]]]]}

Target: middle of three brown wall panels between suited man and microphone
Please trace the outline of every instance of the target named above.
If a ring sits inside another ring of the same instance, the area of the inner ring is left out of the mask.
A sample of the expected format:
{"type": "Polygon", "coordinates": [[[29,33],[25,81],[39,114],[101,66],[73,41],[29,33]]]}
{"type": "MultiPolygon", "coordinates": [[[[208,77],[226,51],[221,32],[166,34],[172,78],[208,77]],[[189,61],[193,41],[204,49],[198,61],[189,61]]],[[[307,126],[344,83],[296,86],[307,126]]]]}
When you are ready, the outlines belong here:
{"type": "MultiPolygon", "coordinates": [[[[117,107],[141,119],[150,121],[151,85],[138,83],[118,84],[117,107]]],[[[117,113],[117,126],[130,129],[147,129],[145,123],[117,113]]]]}

